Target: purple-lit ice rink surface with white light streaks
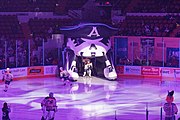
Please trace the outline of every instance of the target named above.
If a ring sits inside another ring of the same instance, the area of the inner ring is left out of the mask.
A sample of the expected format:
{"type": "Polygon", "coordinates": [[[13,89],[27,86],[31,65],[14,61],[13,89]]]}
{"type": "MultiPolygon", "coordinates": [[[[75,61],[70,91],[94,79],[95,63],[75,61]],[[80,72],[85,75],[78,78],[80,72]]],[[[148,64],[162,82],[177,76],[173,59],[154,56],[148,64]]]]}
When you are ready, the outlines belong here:
{"type": "Polygon", "coordinates": [[[40,103],[52,91],[58,105],[55,120],[114,120],[115,111],[118,120],[144,120],[147,103],[150,120],[157,120],[167,90],[175,90],[179,106],[178,88],[177,81],[80,77],[72,86],[63,86],[58,78],[27,79],[13,81],[8,92],[1,91],[0,102],[10,104],[12,120],[38,120],[42,115],[40,103]]]}

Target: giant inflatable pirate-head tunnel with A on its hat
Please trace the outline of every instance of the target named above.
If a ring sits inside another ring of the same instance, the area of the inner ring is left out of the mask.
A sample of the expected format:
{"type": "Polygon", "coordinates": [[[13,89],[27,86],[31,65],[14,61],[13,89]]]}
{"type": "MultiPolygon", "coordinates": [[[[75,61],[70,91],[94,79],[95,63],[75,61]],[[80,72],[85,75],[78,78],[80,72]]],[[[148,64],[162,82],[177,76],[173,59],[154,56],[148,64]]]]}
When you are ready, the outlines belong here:
{"type": "Polygon", "coordinates": [[[117,74],[112,61],[111,41],[117,29],[101,23],[86,23],[60,28],[67,38],[66,69],[73,79],[83,73],[83,59],[92,64],[92,74],[114,80],[117,74]],[[110,54],[109,54],[110,53],[110,54]]]}

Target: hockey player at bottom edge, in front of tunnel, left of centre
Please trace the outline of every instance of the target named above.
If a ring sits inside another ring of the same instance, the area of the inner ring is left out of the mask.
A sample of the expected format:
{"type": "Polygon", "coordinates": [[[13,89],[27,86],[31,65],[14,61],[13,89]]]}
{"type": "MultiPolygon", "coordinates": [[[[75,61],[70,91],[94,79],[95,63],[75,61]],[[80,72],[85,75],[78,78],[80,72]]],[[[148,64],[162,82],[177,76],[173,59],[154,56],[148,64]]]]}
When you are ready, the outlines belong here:
{"type": "Polygon", "coordinates": [[[41,120],[54,120],[55,113],[57,112],[56,99],[53,93],[50,92],[48,97],[45,97],[41,102],[43,116],[41,120]]]}

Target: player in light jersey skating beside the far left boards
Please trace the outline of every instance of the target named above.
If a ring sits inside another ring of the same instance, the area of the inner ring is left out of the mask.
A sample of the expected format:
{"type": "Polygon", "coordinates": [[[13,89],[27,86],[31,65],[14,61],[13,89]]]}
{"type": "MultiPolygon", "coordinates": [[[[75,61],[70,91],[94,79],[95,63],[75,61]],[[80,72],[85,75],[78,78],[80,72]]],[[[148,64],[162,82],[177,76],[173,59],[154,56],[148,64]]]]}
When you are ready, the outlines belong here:
{"type": "Polygon", "coordinates": [[[11,81],[13,80],[13,75],[12,73],[10,72],[9,68],[6,69],[4,75],[3,75],[3,79],[2,81],[5,81],[5,89],[4,89],[4,92],[7,92],[8,90],[8,87],[11,83],[11,81]]]}

